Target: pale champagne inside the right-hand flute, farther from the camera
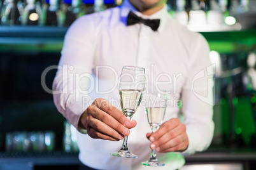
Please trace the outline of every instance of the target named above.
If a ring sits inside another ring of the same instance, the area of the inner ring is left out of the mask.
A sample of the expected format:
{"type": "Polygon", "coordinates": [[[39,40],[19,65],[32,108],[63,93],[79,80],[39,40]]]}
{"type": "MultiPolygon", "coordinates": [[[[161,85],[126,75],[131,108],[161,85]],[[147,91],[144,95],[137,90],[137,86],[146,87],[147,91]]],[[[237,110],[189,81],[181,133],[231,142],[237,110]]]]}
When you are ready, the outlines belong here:
{"type": "Polygon", "coordinates": [[[164,119],[166,113],[166,107],[147,107],[146,114],[148,116],[148,122],[151,128],[159,128],[164,119]]]}

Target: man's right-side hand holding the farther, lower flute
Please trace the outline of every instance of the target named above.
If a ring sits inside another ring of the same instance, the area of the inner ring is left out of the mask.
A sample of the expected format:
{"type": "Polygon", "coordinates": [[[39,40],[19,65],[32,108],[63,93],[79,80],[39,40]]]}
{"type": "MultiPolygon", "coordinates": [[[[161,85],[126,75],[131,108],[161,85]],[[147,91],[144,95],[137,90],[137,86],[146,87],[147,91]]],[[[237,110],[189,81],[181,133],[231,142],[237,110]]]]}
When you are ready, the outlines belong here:
{"type": "Polygon", "coordinates": [[[178,118],[164,122],[155,133],[147,133],[146,137],[152,142],[150,148],[157,152],[182,152],[188,147],[186,127],[178,118]]]}

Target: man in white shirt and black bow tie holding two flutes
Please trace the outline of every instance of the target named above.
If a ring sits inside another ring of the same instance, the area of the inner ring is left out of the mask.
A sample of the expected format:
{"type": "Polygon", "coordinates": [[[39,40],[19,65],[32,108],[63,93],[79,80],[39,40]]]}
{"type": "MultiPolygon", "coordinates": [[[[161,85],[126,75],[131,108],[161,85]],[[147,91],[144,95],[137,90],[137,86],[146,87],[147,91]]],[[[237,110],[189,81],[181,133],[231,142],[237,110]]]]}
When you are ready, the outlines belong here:
{"type": "Polygon", "coordinates": [[[208,53],[203,36],[167,13],[166,0],[125,0],[78,18],[64,39],[53,99],[79,131],[80,161],[94,169],[149,169],[141,162],[155,148],[166,164],[160,169],[178,169],[185,163],[182,155],[206,150],[214,129],[208,53]],[[127,25],[130,11],[145,20],[160,19],[159,27],[127,25]],[[163,84],[169,92],[164,124],[153,134],[145,108],[132,121],[120,110],[117,84],[124,65],[144,67],[148,84],[163,84]],[[128,135],[129,150],[138,159],[111,156],[128,135]]]}

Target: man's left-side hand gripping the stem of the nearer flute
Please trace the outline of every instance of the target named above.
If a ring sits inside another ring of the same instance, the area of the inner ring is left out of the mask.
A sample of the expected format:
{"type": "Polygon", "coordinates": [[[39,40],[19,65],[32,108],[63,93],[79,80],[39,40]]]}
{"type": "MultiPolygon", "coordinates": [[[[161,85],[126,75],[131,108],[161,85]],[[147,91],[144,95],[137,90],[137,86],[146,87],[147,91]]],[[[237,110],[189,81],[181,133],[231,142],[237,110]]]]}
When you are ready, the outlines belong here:
{"type": "Polygon", "coordinates": [[[129,120],[121,110],[113,107],[103,98],[97,98],[80,117],[79,126],[87,129],[91,138],[103,140],[122,140],[130,134],[129,129],[136,126],[136,121],[129,120]]]}

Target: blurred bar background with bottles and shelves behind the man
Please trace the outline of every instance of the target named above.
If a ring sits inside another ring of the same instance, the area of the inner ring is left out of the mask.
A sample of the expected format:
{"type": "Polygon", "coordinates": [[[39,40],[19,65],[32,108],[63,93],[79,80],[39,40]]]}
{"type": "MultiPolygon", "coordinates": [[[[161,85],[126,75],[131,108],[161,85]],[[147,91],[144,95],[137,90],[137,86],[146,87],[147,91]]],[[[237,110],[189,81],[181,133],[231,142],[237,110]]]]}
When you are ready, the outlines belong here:
{"type": "MultiPolygon", "coordinates": [[[[120,4],[0,0],[0,169],[77,167],[75,129],[44,90],[52,89],[56,72],[49,67],[58,64],[76,18],[120,4]]],[[[187,164],[228,162],[236,163],[231,169],[255,169],[256,0],[168,0],[167,8],[206,37],[215,64],[214,138],[206,152],[186,157],[187,164]]]]}

